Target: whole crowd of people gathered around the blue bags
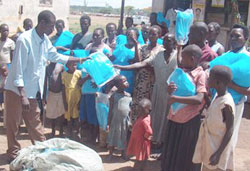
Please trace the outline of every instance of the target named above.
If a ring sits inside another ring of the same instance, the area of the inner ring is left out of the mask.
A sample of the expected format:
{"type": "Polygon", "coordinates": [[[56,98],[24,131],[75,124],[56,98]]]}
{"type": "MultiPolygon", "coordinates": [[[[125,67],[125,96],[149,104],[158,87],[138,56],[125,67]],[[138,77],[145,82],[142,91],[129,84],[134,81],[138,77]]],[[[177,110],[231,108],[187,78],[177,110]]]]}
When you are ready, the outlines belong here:
{"type": "MultiPolygon", "coordinates": [[[[170,14],[169,14],[170,15],[170,14]]],[[[151,25],[133,26],[126,18],[126,29],[115,23],[89,31],[91,18],[80,18],[81,32],[70,46],[54,46],[65,31],[63,20],[50,11],[42,11],[38,24],[24,21],[25,32],[8,38],[7,24],[0,26],[1,102],[8,139],[10,161],[20,150],[19,126],[24,120],[32,143],[44,141],[40,113],[46,105],[46,118],[51,121],[51,138],[56,135],[82,143],[92,143],[109,150],[112,161],[115,149],[127,160],[136,156],[135,170],[143,170],[151,152],[158,151],[163,171],[234,170],[233,153],[238,139],[245,96],[249,87],[232,82],[232,71],[225,66],[209,70],[209,62],[221,56],[225,48],[217,41],[220,25],[195,22],[187,45],[178,45],[173,34],[150,15],[151,25]],[[56,34],[48,37],[56,28],[56,34]],[[90,57],[74,56],[74,50],[89,54],[103,53],[120,69],[120,75],[98,87],[78,64],[90,57]],[[70,51],[70,56],[62,52],[70,51]],[[175,69],[181,68],[196,87],[193,96],[173,95],[175,83],[167,83],[175,69]],[[90,84],[95,91],[83,88],[90,84]],[[216,90],[211,98],[210,88],[216,90]],[[245,95],[235,104],[227,88],[245,95]],[[99,94],[108,97],[107,123],[100,126],[104,115],[97,110],[99,94]],[[4,101],[3,101],[4,99],[4,101]],[[45,102],[45,103],[43,103],[45,102]],[[171,105],[185,104],[177,113],[171,105]],[[66,128],[66,129],[65,129],[66,128]],[[66,132],[66,134],[65,134],[66,132]]],[[[245,44],[248,28],[234,25],[230,32],[229,52],[250,55],[245,44]]],[[[152,156],[155,157],[155,156],[152,156]]]]}

